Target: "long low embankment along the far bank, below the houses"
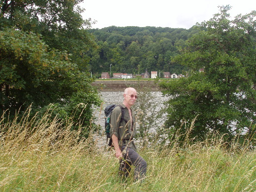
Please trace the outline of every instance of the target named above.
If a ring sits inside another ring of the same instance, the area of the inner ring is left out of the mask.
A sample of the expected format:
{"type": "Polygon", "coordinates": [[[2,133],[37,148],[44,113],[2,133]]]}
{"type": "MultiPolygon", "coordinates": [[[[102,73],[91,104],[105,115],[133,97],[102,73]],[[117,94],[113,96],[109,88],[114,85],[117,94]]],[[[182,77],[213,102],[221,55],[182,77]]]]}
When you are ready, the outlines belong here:
{"type": "Polygon", "coordinates": [[[151,91],[160,91],[158,82],[154,80],[96,80],[92,85],[98,91],[124,91],[128,87],[134,87],[137,90],[150,89],[151,91]]]}

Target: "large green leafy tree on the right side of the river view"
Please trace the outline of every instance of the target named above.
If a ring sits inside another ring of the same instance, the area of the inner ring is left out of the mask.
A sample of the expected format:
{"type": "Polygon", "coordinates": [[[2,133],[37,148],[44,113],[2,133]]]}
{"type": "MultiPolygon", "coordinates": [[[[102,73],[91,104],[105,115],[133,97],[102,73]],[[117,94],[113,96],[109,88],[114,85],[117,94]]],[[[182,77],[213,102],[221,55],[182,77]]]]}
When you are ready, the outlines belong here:
{"type": "Polygon", "coordinates": [[[256,124],[256,11],[229,20],[229,10],[222,6],[212,19],[197,24],[200,31],[174,57],[173,62],[191,68],[188,78],[161,84],[172,96],[165,122],[171,134],[185,133],[184,121],[194,118],[191,134],[199,140],[214,131],[231,139],[256,124]]]}

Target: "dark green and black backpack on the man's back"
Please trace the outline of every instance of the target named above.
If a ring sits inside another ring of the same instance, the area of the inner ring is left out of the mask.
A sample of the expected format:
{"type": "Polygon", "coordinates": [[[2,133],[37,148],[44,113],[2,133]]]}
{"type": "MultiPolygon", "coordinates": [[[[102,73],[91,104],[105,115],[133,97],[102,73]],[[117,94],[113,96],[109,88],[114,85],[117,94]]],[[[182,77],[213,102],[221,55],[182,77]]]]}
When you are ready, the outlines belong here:
{"type": "MultiPolygon", "coordinates": [[[[119,106],[121,108],[122,115],[121,115],[120,123],[122,121],[125,121],[126,123],[128,122],[127,120],[124,119],[125,111],[124,111],[124,108],[121,105],[110,104],[110,105],[106,106],[106,108],[104,110],[104,113],[105,113],[104,118],[105,118],[105,133],[106,133],[106,136],[107,136],[107,140],[108,140],[108,138],[110,138],[108,146],[112,146],[112,138],[110,136],[110,116],[111,116],[111,113],[112,113],[113,109],[116,106],[119,106]]],[[[107,141],[106,141],[106,143],[107,143],[107,141]]]]}

